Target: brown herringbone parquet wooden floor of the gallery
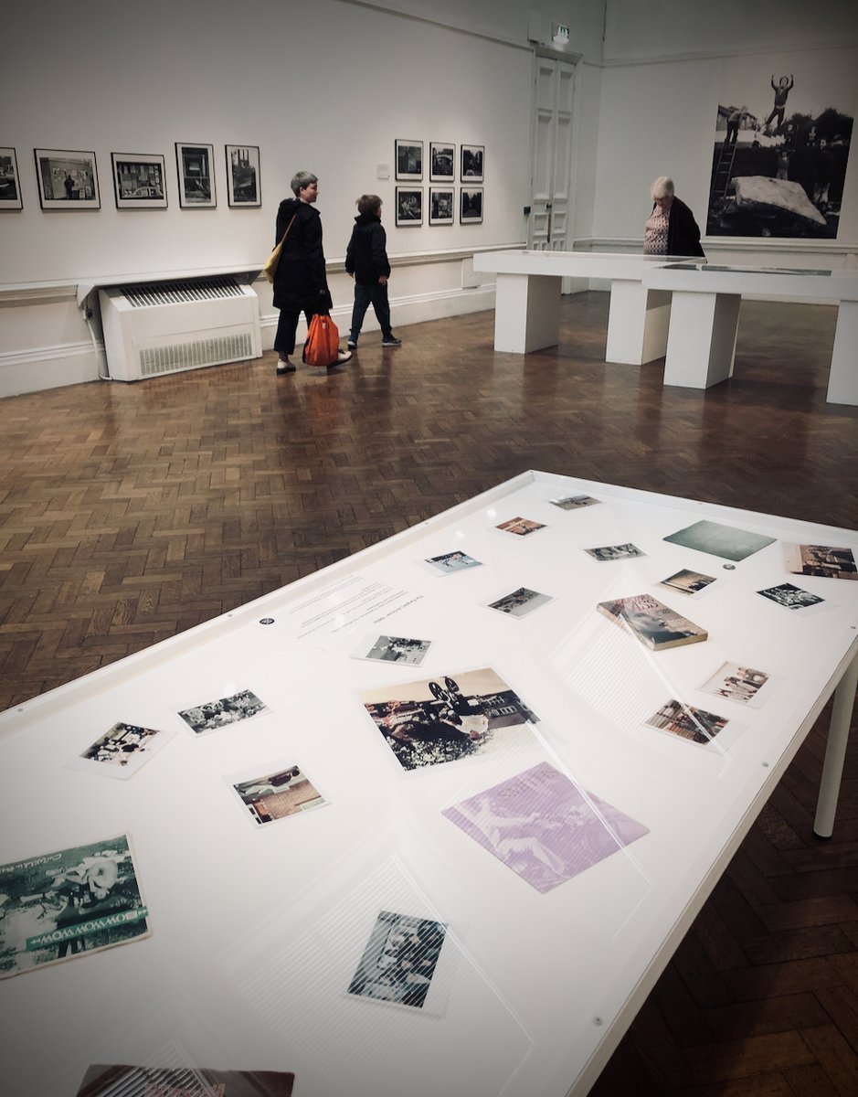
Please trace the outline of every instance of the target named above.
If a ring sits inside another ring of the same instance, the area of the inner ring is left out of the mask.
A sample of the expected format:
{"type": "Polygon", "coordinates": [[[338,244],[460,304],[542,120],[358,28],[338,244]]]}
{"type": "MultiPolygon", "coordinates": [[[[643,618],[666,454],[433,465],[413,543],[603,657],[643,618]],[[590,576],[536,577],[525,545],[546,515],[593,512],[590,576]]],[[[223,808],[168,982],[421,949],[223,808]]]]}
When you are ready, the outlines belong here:
{"type": "MultiPolygon", "coordinates": [[[[331,376],[273,357],[0,402],[0,709],[171,636],[527,468],[858,525],[858,408],[825,403],[827,306],[745,302],[735,376],[605,362],[607,295],[558,348],[493,314],[368,332],[331,376]]],[[[812,835],[827,713],[592,1093],[856,1097],[858,750],[812,835]]],[[[527,1097],[527,1095],[521,1095],[527,1097]]]]}

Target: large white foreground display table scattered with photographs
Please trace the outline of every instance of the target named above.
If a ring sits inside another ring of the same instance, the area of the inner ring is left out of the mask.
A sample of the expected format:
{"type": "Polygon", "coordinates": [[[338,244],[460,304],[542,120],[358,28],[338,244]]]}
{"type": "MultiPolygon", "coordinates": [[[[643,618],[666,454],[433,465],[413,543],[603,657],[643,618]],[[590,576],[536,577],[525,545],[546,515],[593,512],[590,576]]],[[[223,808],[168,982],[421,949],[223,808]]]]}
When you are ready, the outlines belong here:
{"type": "Polygon", "coordinates": [[[294,1071],[301,1097],[586,1094],[840,683],[816,825],[831,834],[858,581],[789,574],[782,542],[858,553],[856,532],[526,473],[4,713],[0,864],[128,835],[151,928],[0,982],[7,1090],[69,1097],[90,1063],[129,1063],[294,1071]],[[599,502],[551,501],[577,495],[599,502]],[[543,528],[497,529],[515,518],[543,528]],[[703,519],[778,540],[732,566],[664,540],[703,519]],[[643,555],[586,552],[630,542],[643,555]],[[479,566],[425,563],[460,552],[479,566]],[[658,585],[680,569],[716,581],[658,585]],[[757,593],[784,583],[817,612],[757,593]],[[336,614],[326,632],[331,606],[364,612],[349,590],[386,587],[353,634],[336,614]],[[487,607],[521,587],[551,600],[487,607]],[[709,638],[651,652],[597,612],[637,593],[709,638]],[[353,658],[364,632],[431,646],[419,667],[353,658]],[[725,660],[769,676],[764,703],[701,689],[725,660]],[[361,693],[485,667],[538,723],[498,716],[497,749],[400,768],[361,693]],[[201,735],[178,715],[242,689],[270,711],[201,735]],[[671,698],[729,723],[704,744],[647,724],[671,698]],[[117,721],[173,735],[127,780],[68,768],[117,721]],[[255,826],[225,777],[281,760],[327,804],[255,826]],[[442,812],[545,761],[648,833],[541,893],[442,812]],[[440,1015],[347,993],[380,909],[448,925],[440,1015]]]}

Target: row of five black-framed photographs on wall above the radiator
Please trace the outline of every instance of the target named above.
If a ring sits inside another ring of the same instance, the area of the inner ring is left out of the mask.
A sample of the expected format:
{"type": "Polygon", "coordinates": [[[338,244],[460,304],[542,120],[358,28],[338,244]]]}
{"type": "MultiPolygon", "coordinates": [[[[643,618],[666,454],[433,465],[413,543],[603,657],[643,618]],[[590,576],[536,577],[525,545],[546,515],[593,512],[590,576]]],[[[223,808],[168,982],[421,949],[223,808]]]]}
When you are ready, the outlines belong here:
{"type": "MultiPolygon", "coordinates": [[[[45,211],[100,210],[95,154],[81,149],[33,149],[38,203],[45,211]]],[[[259,148],[225,145],[226,196],[233,208],[262,205],[259,148]]],[[[179,206],[217,205],[214,146],[176,143],[179,206]]],[[[159,152],[111,152],[111,178],[117,210],[166,210],[168,182],[159,152]]],[[[14,148],[0,148],[0,210],[22,210],[21,174],[14,148]]]]}

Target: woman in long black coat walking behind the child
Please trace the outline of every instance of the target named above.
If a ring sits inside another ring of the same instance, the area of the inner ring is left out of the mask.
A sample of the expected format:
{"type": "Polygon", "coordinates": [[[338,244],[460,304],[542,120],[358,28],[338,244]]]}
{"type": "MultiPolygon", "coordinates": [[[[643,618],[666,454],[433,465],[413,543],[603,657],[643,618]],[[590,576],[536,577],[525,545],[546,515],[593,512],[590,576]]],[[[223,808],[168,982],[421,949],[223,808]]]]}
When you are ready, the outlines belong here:
{"type": "MultiPolygon", "coordinates": [[[[292,177],[290,186],[295,197],[283,199],[280,203],[274,233],[274,244],[279,244],[289,229],[274,273],[273,302],[280,309],[274,336],[278,376],[295,372],[290,354],[295,350],[295,331],[302,312],[309,325],[313,316],[326,315],[334,304],[321,250],[321,217],[318,210],[313,208],[318,197],[318,177],[311,171],[298,171],[292,177]]],[[[334,365],[342,365],[350,358],[351,351],[341,350],[334,365]]]]}

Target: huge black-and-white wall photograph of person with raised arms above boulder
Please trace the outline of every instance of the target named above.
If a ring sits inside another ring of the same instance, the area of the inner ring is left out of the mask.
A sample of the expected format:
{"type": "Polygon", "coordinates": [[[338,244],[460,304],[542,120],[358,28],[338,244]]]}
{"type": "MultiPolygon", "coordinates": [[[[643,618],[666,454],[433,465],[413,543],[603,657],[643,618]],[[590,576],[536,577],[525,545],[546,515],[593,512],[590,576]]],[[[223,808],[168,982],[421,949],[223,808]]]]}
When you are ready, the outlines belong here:
{"type": "Polygon", "coordinates": [[[836,238],[856,98],[848,50],[721,61],[705,235],[836,238]]]}

